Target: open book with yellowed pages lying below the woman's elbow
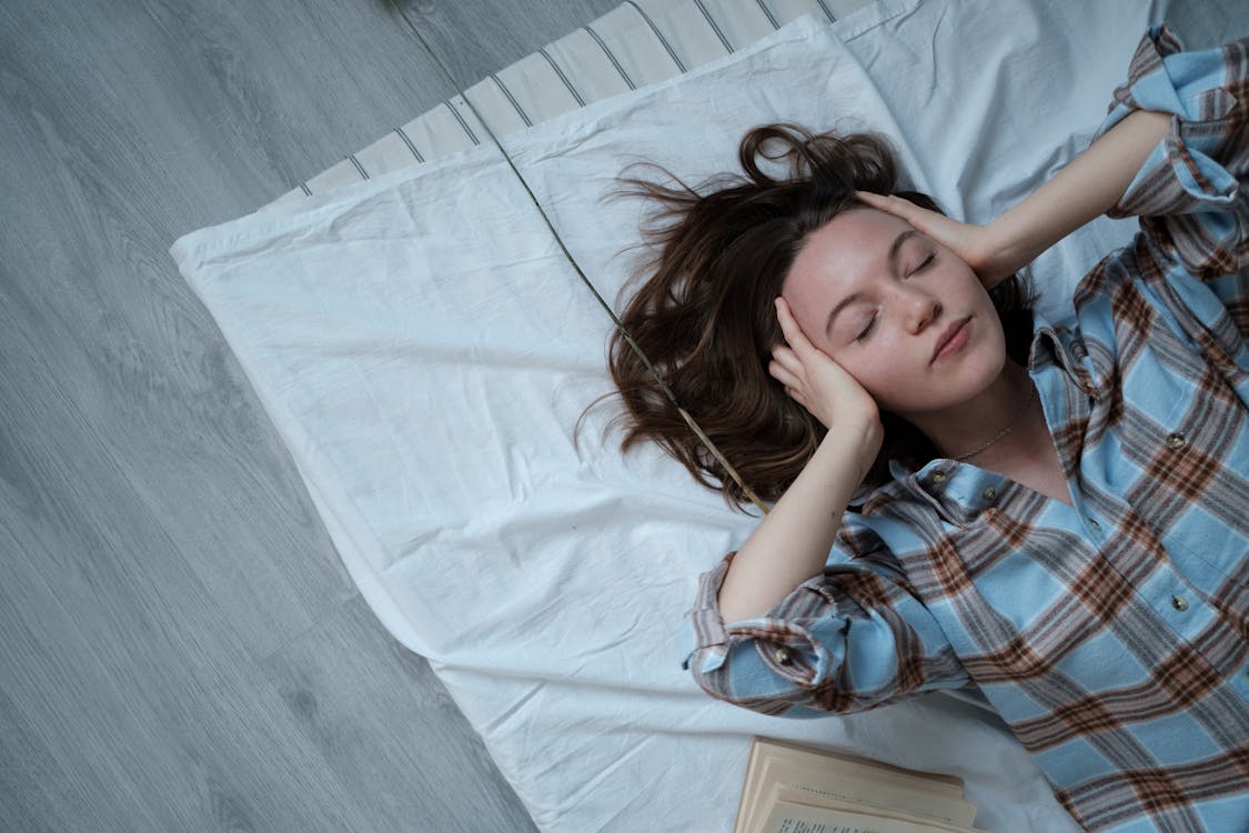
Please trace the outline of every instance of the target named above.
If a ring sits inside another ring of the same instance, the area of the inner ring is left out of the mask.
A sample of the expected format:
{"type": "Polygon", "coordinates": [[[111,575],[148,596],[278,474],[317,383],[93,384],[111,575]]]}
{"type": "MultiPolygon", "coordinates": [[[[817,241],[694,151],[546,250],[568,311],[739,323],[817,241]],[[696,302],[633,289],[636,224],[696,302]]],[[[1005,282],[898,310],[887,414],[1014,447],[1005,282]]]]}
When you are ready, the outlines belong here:
{"type": "Polygon", "coordinates": [[[979,833],[953,776],[754,738],[733,833],[979,833]]]}

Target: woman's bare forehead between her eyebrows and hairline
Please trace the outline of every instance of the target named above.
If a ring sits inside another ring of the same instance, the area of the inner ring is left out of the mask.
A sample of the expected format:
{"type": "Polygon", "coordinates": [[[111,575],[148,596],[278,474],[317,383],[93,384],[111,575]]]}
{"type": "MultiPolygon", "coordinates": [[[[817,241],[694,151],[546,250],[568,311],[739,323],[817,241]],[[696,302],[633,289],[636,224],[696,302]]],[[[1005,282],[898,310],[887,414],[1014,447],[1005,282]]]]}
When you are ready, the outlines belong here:
{"type": "Polygon", "coordinates": [[[804,295],[884,277],[889,247],[911,224],[876,209],[851,209],[807,235],[784,292],[804,295]]]}

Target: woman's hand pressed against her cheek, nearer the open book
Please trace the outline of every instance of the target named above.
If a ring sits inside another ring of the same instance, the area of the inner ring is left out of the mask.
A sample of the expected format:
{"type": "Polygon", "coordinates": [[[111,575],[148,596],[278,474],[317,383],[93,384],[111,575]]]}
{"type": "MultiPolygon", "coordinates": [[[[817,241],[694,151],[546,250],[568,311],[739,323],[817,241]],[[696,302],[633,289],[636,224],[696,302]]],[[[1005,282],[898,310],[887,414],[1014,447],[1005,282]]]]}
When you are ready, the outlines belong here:
{"type": "Polygon", "coordinates": [[[863,431],[876,443],[872,457],[884,437],[876,400],[853,376],[812,345],[794,321],[784,298],[776,300],[777,321],[786,343],[772,348],[768,372],[784,386],[789,397],[807,408],[826,428],[863,431]]]}

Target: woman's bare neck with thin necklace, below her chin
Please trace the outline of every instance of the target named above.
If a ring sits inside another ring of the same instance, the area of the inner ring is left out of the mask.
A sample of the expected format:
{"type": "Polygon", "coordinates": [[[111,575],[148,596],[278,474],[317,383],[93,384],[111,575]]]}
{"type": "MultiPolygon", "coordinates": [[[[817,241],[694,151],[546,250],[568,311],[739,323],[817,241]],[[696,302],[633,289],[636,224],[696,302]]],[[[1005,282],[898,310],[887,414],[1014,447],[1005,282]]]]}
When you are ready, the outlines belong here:
{"type": "Polygon", "coordinates": [[[965,456],[967,462],[983,465],[990,457],[999,457],[1003,448],[1015,447],[1024,440],[1024,427],[1034,422],[1025,411],[1037,407],[1039,401],[1033,396],[1028,371],[1008,360],[993,383],[965,402],[942,411],[907,415],[907,420],[943,456],[955,460],[965,456]]]}

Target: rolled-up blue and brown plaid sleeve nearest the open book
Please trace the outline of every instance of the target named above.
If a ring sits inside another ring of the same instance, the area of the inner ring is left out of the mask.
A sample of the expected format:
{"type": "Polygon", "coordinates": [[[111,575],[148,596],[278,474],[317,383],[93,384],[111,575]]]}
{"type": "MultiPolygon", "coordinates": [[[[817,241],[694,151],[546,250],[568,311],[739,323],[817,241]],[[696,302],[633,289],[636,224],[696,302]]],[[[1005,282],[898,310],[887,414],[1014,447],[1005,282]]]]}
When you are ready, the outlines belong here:
{"type": "Polygon", "coordinates": [[[686,666],[712,697],[767,714],[856,712],[962,688],[967,672],[887,553],[828,566],[767,616],[724,623],[718,594],[733,553],[699,579],[686,666]]]}

